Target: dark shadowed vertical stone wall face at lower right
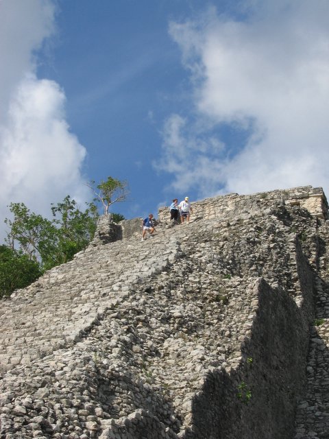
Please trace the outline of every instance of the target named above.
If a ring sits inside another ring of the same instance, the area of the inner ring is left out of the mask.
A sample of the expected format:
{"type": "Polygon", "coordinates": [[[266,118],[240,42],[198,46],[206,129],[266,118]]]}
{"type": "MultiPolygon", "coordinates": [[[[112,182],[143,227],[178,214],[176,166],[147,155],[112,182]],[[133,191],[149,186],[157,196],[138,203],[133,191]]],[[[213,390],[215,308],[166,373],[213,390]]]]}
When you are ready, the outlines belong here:
{"type": "Polygon", "coordinates": [[[209,373],[193,401],[192,427],[184,439],[293,438],[308,328],[294,300],[263,280],[258,300],[240,366],[230,373],[209,373]]]}

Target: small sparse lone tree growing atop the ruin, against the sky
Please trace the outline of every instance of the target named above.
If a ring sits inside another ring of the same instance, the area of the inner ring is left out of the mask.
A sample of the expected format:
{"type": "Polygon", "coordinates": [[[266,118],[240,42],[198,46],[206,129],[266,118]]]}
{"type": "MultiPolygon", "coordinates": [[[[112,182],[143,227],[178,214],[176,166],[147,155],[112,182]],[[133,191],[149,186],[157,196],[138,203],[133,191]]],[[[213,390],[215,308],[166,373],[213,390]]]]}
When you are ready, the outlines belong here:
{"type": "Polygon", "coordinates": [[[108,177],[106,181],[101,180],[95,187],[95,181],[87,185],[96,195],[94,201],[103,204],[104,214],[108,214],[108,209],[115,202],[125,201],[129,193],[126,181],[117,180],[117,178],[108,177]]]}

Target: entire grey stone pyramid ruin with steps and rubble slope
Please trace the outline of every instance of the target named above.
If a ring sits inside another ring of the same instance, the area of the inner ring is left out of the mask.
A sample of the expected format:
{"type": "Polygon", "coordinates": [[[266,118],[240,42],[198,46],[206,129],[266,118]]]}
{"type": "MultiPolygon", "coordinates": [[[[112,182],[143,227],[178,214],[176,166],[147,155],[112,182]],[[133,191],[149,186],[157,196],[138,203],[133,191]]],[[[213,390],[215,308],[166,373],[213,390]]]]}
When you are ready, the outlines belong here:
{"type": "Polygon", "coordinates": [[[101,219],[0,301],[0,438],[328,437],[327,208],[229,194],[143,242],[101,219]]]}

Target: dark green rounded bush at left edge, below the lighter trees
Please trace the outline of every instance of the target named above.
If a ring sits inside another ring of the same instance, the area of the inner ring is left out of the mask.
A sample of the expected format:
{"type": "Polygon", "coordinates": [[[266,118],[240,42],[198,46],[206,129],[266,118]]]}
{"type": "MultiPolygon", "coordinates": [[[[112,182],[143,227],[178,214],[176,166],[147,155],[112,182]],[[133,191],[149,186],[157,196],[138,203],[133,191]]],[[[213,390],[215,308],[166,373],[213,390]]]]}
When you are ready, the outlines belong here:
{"type": "Polygon", "coordinates": [[[17,288],[27,287],[41,274],[40,266],[26,254],[0,246],[0,298],[17,288]]]}

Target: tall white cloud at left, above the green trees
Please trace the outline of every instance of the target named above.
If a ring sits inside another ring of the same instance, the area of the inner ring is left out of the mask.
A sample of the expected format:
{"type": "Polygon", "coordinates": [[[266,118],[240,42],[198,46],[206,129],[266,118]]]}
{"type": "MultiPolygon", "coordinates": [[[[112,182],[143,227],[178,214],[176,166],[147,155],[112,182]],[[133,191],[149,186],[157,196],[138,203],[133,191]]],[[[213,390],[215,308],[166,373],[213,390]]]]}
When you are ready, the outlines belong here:
{"type": "Polygon", "coordinates": [[[10,202],[49,215],[68,194],[88,198],[86,150],[66,123],[64,91],[36,76],[36,51],[55,32],[55,14],[51,0],[0,1],[1,237],[10,202]]]}

